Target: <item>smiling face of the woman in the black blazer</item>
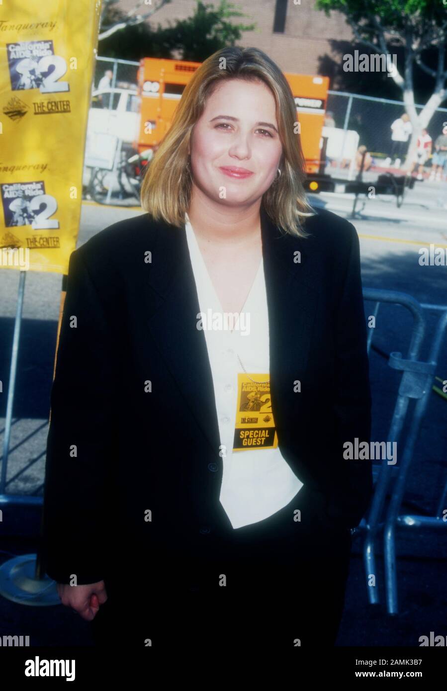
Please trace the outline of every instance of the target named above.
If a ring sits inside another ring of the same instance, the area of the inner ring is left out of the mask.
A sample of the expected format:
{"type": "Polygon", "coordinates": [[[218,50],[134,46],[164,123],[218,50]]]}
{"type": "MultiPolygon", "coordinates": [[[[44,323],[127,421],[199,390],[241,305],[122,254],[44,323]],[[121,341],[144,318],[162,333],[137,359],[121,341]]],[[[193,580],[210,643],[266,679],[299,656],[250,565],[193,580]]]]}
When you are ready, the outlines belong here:
{"type": "Polygon", "coordinates": [[[283,151],[275,100],[263,82],[229,79],[208,98],[191,137],[193,185],[224,205],[256,202],[283,151]],[[233,174],[231,169],[233,170],[233,174]],[[237,169],[242,169],[238,175],[237,169]]]}

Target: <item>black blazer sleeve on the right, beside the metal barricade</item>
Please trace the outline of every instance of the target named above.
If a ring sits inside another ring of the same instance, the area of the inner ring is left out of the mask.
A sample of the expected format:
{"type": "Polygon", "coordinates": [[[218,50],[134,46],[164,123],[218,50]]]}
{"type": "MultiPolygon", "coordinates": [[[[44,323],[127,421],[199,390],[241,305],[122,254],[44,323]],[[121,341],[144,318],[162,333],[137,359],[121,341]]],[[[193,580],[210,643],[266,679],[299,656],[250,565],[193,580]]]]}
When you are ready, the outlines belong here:
{"type": "Polygon", "coordinates": [[[327,513],[335,521],[355,527],[372,497],[372,462],[348,460],[345,442],[355,439],[370,445],[371,391],[367,328],[363,307],[359,236],[350,228],[350,252],[341,301],[336,314],[334,419],[336,426],[336,476],[327,513]]]}

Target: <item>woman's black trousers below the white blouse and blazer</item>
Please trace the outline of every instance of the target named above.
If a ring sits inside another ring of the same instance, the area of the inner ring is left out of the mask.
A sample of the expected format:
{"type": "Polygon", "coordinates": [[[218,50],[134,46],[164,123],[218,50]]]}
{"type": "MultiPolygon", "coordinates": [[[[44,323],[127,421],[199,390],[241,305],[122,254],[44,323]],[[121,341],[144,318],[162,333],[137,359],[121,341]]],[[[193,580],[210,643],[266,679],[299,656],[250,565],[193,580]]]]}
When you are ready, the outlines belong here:
{"type": "Polygon", "coordinates": [[[106,581],[108,600],[92,622],[96,644],[155,654],[333,646],[351,534],[331,524],[324,504],[303,487],[269,518],[222,527],[181,559],[164,556],[147,589],[140,574],[139,594],[129,591],[135,574],[128,584],[106,581]]]}

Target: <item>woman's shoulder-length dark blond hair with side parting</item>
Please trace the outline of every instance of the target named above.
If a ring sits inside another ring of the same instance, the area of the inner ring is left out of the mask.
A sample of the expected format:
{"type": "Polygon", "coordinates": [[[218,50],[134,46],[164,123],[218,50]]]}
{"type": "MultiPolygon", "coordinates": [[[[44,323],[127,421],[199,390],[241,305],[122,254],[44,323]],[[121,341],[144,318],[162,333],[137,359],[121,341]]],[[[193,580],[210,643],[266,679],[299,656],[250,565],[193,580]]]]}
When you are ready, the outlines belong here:
{"type": "Polygon", "coordinates": [[[187,165],[193,126],[207,98],[223,79],[261,81],[276,102],[276,120],[283,153],[280,176],[263,194],[262,205],[272,221],[286,233],[305,238],[305,216],[313,216],[303,187],[305,160],[301,149],[296,106],[280,68],[258,48],[222,48],[196,70],[175,109],[173,122],[149,164],[142,182],[141,205],[155,220],[184,223],[191,200],[191,169],[187,165]]]}

